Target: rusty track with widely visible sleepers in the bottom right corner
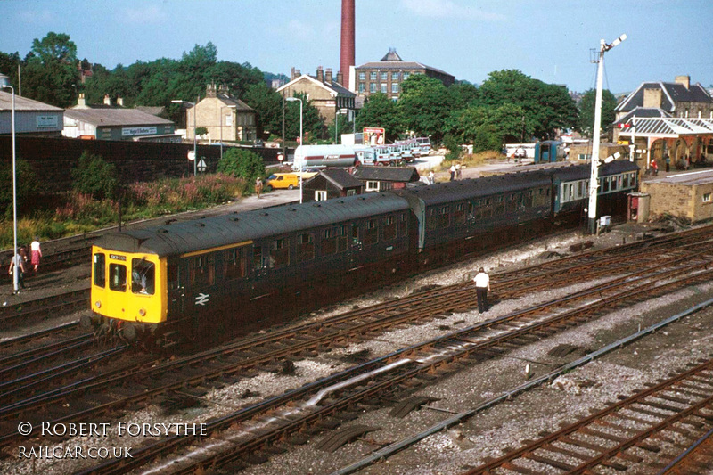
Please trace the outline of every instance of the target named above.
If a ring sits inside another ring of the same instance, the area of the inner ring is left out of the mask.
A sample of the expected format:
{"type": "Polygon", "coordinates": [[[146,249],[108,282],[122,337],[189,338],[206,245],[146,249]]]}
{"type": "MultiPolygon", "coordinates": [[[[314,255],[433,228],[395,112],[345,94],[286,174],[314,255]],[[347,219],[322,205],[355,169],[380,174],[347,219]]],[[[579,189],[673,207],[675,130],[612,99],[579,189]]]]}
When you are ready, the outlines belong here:
{"type": "MultiPolygon", "coordinates": [[[[689,444],[701,441],[696,448],[707,449],[710,455],[711,429],[713,360],[630,397],[621,397],[602,411],[467,473],[575,474],[594,473],[605,467],[621,472],[642,465],[653,468],[655,462],[674,459],[674,447],[684,440],[689,444]]],[[[692,463],[685,470],[693,468],[693,458],[685,458],[692,463]]],[[[678,461],[683,462],[684,458],[678,461]]],[[[706,468],[710,469],[709,463],[706,468]]],[[[674,473],[673,469],[671,466],[663,473],[674,473]]]]}

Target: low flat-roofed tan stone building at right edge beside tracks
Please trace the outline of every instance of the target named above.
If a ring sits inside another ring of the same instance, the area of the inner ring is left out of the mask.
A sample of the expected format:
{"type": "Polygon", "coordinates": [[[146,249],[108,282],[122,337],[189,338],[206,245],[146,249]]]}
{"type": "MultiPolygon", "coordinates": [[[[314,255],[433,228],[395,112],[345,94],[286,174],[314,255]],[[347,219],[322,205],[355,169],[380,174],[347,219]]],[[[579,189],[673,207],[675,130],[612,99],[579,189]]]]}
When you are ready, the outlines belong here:
{"type": "Polygon", "coordinates": [[[691,223],[713,219],[713,170],[644,180],[641,191],[651,195],[652,217],[669,214],[691,223]]]}

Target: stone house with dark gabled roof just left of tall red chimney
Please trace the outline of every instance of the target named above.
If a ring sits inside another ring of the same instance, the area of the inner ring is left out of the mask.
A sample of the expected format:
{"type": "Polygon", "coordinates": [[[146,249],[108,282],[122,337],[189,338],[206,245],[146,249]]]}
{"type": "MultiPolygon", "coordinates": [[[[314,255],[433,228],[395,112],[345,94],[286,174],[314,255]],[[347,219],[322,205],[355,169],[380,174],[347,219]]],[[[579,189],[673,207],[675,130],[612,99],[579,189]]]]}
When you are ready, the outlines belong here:
{"type": "Polygon", "coordinates": [[[332,70],[317,68],[316,76],[301,74],[292,68],[291,80],[277,89],[283,97],[292,97],[295,93],[305,94],[307,101],[316,107],[320,117],[332,123],[337,112],[346,113],[349,121],[354,120],[355,94],[341,85],[341,73],[334,77],[332,70]]]}

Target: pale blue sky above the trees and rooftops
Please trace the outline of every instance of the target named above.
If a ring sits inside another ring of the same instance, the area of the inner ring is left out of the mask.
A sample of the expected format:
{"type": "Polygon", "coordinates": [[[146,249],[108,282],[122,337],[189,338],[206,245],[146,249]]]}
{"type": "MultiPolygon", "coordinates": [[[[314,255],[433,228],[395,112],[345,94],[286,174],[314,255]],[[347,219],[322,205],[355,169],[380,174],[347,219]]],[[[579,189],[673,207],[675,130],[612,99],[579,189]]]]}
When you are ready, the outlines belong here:
{"type": "MultiPolygon", "coordinates": [[[[66,33],[78,57],[118,63],[178,59],[194,45],[218,59],[289,75],[339,68],[340,0],[0,0],[0,51],[29,52],[34,38],[66,33]]],[[[711,0],[356,0],[356,64],[395,47],[406,61],[480,83],[518,69],[571,90],[594,87],[590,48],[605,56],[604,86],[688,74],[713,85],[711,0]]]]}

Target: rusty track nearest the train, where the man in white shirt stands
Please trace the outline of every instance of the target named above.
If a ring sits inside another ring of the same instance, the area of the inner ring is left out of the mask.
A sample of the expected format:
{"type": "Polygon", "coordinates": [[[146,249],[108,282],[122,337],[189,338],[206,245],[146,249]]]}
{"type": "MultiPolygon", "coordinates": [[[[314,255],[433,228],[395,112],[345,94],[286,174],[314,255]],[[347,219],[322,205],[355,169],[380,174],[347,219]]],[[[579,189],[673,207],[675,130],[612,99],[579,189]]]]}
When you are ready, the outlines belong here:
{"type": "MultiPolygon", "coordinates": [[[[713,245],[712,245],[713,246],[713,245]]],[[[699,246],[700,247],[700,246],[699,246]]],[[[713,248],[711,248],[713,249],[713,248]]],[[[668,254],[659,254],[652,258],[646,266],[641,259],[634,260],[630,255],[619,258],[603,258],[595,263],[578,263],[575,267],[557,266],[556,269],[544,274],[534,273],[529,278],[520,276],[504,283],[494,283],[496,292],[501,299],[516,297],[526,292],[547,289],[562,284],[571,284],[611,274],[626,274],[611,284],[623,282],[634,278],[635,274],[650,272],[652,267],[676,265],[701,255],[703,251],[693,253],[687,250],[669,251],[668,254]],[[598,265],[601,268],[596,268],[598,265]],[[575,271],[579,271],[578,273],[575,271]],[[631,272],[635,270],[635,274],[631,272]],[[533,283],[530,279],[537,281],[533,283]]],[[[61,390],[49,391],[46,397],[37,395],[29,401],[13,400],[12,405],[0,407],[0,419],[33,412],[36,404],[64,402],[71,397],[84,395],[86,391],[105,389],[107,385],[118,386],[124,381],[139,383],[142,391],[138,394],[125,397],[116,401],[114,405],[125,405],[129,401],[136,404],[137,399],[147,399],[151,396],[165,394],[168,391],[180,389],[185,385],[196,385],[201,381],[234,380],[244,377],[258,369],[270,369],[281,361],[301,358],[324,352],[335,345],[345,345],[348,342],[368,338],[378,332],[408,323],[418,323],[433,318],[435,315],[465,311],[475,306],[475,298],[471,288],[472,284],[456,285],[437,291],[426,291],[410,296],[406,299],[386,302],[377,306],[360,309],[347,314],[336,315],[321,322],[288,327],[280,331],[270,332],[250,340],[242,340],[233,345],[211,349],[209,351],[179,358],[164,364],[154,364],[150,370],[143,372],[126,372],[117,374],[100,375],[96,378],[86,378],[81,386],[69,385],[61,390]],[[181,377],[182,371],[196,373],[198,364],[209,366],[210,370],[191,377],[181,377]],[[156,381],[170,379],[173,384],[162,386],[158,389],[146,390],[156,385],[156,381]]],[[[82,360],[78,364],[83,364],[82,360]]],[[[74,406],[74,405],[72,405],[74,406]]],[[[110,405],[104,405],[102,410],[108,410],[110,405]]],[[[2,440],[2,439],[0,439],[2,440]]]]}

